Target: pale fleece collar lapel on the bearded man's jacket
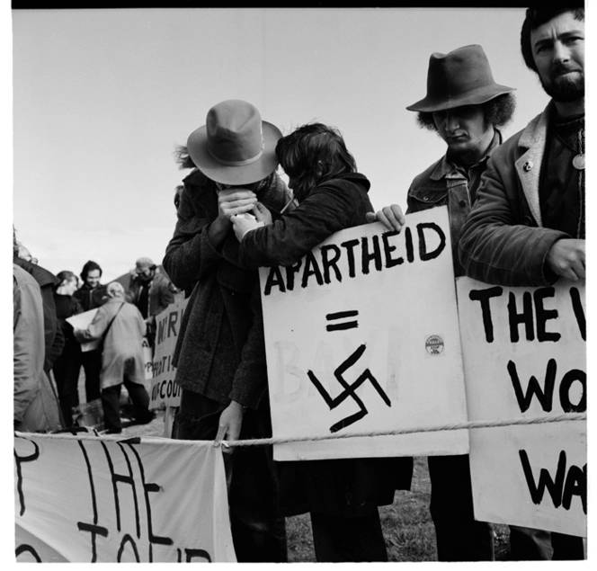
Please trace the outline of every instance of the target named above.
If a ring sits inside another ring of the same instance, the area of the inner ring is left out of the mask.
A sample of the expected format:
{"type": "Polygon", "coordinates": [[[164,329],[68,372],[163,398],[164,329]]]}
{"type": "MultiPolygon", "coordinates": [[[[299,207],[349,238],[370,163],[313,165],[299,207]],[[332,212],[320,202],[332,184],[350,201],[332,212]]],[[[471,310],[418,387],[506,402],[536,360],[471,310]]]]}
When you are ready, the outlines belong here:
{"type": "Polygon", "coordinates": [[[548,124],[553,116],[554,104],[549,102],[545,110],[522,129],[518,146],[526,149],[514,162],[514,167],[521,181],[522,192],[529,203],[530,212],[540,226],[541,209],[539,206],[539,175],[548,139],[548,124]]]}

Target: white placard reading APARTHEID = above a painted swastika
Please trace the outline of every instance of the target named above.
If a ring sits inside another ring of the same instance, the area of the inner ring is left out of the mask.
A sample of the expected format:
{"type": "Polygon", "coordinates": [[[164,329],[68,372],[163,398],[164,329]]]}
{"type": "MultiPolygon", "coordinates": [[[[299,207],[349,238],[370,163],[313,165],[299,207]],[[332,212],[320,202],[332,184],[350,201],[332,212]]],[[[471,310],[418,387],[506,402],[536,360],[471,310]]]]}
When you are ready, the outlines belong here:
{"type": "MultiPolygon", "coordinates": [[[[445,208],[330,236],[260,269],[273,434],[467,422],[445,208]]],[[[276,459],[468,452],[467,431],[276,445],[276,459]]]]}

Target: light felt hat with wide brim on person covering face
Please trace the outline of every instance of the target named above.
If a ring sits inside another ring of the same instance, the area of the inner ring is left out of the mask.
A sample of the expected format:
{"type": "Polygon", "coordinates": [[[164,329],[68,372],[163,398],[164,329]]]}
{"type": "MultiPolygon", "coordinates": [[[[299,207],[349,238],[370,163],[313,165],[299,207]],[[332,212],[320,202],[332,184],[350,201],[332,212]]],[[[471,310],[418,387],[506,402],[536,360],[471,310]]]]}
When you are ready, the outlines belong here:
{"type": "Polygon", "coordinates": [[[208,178],[223,184],[249,184],[278,166],[280,129],[263,121],[256,107],[238,99],[214,105],[206,124],[188,141],[189,156],[208,178]]]}

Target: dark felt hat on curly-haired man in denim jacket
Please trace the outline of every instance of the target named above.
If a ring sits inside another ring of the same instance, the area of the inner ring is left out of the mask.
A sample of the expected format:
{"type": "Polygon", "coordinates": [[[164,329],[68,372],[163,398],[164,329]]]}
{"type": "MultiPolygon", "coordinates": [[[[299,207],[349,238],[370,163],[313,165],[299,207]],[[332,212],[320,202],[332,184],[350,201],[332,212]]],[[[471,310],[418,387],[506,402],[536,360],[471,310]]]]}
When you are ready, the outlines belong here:
{"type": "Polygon", "coordinates": [[[498,85],[485,51],[478,45],[432,53],[427,71],[427,95],[406,107],[409,111],[438,112],[462,105],[479,105],[515,91],[498,85]]]}

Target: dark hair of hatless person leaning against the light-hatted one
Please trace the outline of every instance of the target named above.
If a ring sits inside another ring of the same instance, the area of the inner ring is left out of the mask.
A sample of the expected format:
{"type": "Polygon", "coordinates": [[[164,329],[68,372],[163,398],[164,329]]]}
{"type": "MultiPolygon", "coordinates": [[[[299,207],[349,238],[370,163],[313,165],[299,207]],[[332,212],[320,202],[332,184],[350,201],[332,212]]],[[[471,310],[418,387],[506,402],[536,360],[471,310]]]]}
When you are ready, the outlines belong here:
{"type": "Polygon", "coordinates": [[[340,130],[322,123],[307,123],[280,138],[276,155],[284,172],[298,181],[301,190],[293,189],[298,201],[317,184],[357,170],[340,130]]]}

